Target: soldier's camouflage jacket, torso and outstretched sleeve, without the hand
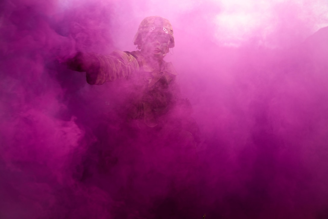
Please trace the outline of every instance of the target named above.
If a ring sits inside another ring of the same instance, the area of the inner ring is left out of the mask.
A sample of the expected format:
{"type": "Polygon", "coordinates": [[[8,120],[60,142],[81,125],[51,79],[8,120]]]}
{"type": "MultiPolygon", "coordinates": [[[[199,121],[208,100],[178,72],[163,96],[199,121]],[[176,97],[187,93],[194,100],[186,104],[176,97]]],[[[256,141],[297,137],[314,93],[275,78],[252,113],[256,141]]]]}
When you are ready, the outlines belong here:
{"type": "Polygon", "coordinates": [[[87,72],[87,82],[92,85],[121,79],[129,82],[129,89],[134,90],[129,110],[132,119],[155,127],[177,101],[181,101],[176,85],[177,73],[171,62],[162,61],[160,69],[156,70],[140,51],[114,50],[110,55],[93,55],[99,61],[99,70],[87,72]]]}

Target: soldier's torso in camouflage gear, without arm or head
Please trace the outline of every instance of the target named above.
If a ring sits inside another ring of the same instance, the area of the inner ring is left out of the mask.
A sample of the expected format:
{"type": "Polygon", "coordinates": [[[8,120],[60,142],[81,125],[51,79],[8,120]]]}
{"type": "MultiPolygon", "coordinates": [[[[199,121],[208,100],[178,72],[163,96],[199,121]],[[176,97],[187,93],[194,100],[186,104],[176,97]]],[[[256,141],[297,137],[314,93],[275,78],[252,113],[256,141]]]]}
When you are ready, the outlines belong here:
{"type": "Polygon", "coordinates": [[[159,123],[160,117],[169,113],[179,98],[175,78],[177,73],[171,62],[162,61],[159,68],[154,68],[140,51],[130,53],[139,63],[135,86],[137,93],[132,117],[142,119],[149,126],[159,123]]]}

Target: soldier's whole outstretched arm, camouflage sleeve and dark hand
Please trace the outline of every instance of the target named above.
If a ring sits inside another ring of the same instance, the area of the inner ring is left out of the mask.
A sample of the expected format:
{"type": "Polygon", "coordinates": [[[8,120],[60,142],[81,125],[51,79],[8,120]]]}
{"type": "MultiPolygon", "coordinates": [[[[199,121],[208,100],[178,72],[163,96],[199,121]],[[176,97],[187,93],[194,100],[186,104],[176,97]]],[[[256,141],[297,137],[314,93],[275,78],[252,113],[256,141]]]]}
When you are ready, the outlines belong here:
{"type": "Polygon", "coordinates": [[[127,79],[139,70],[139,64],[132,55],[118,50],[109,55],[78,52],[66,63],[71,70],[86,72],[87,82],[91,85],[127,79]]]}

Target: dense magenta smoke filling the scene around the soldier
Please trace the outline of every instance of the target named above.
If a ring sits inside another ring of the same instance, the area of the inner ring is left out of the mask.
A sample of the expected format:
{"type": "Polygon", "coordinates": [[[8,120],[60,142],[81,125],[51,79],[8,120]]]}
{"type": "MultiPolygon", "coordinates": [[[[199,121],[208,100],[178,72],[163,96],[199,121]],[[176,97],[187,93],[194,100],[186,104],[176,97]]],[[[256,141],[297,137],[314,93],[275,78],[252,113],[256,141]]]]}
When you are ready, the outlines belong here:
{"type": "Polygon", "coordinates": [[[328,217],[325,1],[4,0],[0,10],[0,218],[328,217]],[[65,65],[78,51],[136,50],[150,15],[174,29],[165,60],[193,106],[196,155],[132,142],[119,83],[88,85],[65,65]]]}

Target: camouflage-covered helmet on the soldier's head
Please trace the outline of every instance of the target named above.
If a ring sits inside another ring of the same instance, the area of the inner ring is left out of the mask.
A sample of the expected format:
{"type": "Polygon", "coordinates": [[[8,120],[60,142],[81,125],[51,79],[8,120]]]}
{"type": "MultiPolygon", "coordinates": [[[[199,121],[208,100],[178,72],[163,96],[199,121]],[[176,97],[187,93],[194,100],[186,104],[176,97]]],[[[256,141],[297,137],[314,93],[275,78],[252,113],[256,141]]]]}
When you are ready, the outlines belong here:
{"type": "Polygon", "coordinates": [[[142,37],[149,32],[163,32],[170,35],[169,48],[174,47],[173,29],[170,21],[161,16],[150,16],[143,19],[139,25],[138,31],[134,36],[134,45],[142,44],[142,37]]]}

